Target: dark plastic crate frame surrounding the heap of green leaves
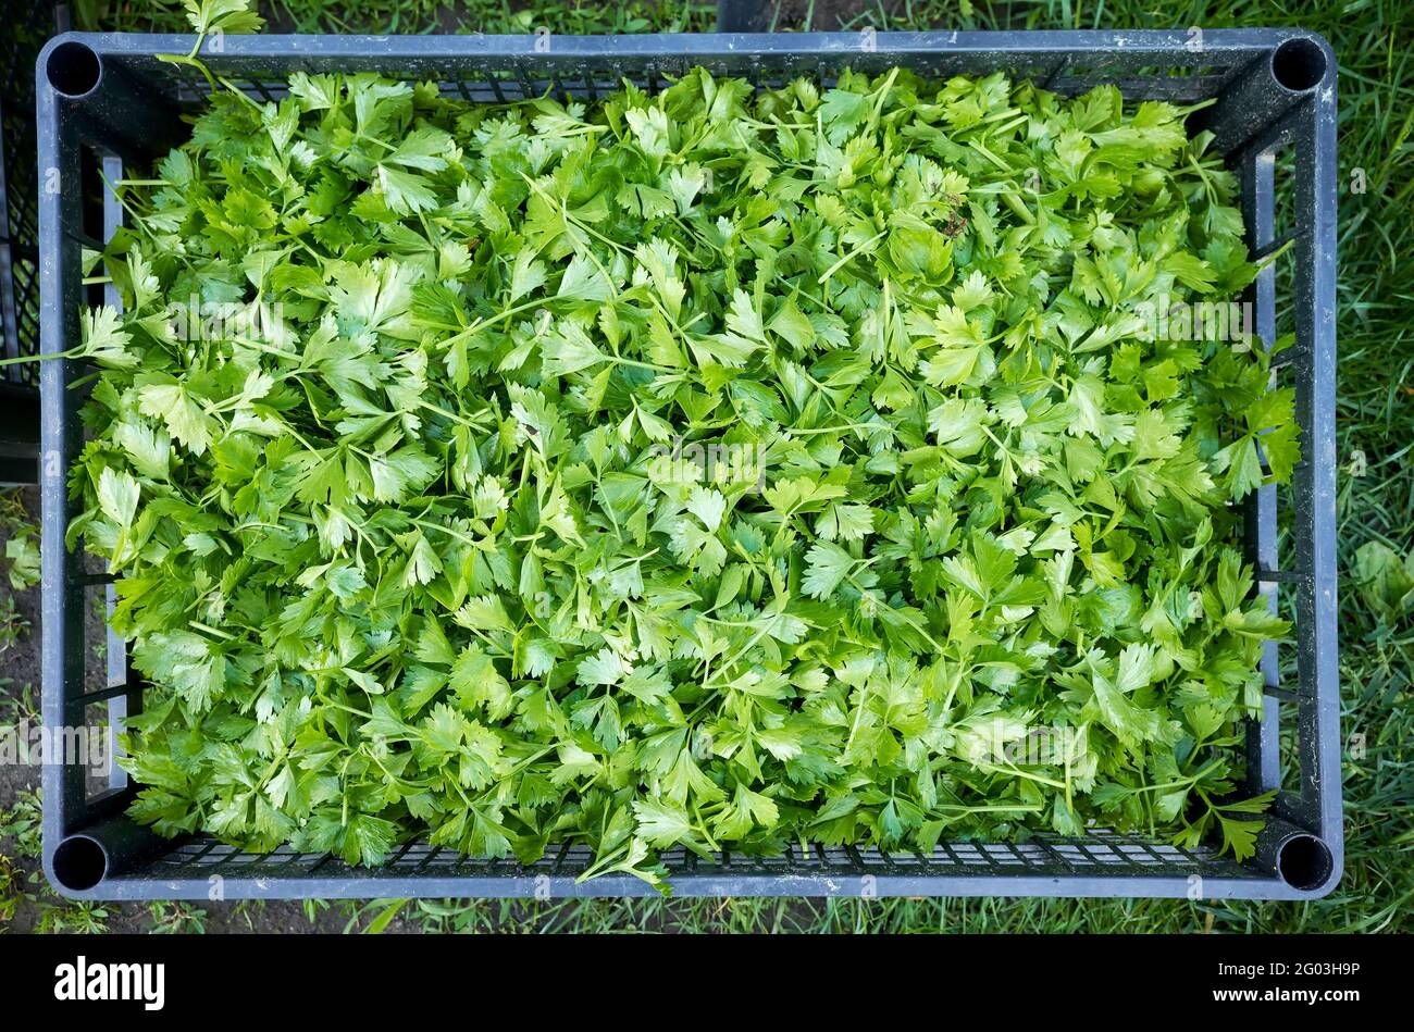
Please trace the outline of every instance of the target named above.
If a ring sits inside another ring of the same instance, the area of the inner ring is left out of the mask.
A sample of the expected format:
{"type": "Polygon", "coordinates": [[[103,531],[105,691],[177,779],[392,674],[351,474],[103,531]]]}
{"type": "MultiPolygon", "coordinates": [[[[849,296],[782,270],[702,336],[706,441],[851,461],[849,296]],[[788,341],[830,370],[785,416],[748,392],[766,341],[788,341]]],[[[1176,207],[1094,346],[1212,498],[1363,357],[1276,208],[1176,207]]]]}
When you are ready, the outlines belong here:
{"type": "MultiPolygon", "coordinates": [[[[178,112],[198,105],[205,81],[191,68],[158,62],[185,54],[191,37],[82,35],[52,41],[38,64],[41,167],[59,192],[41,198],[42,341],[59,352],[79,339],[85,300],[79,256],[100,246],[120,219],[105,205],[102,225],[85,225],[85,167],[143,164],[180,131],[178,112]]],[[[1212,129],[1241,177],[1249,243],[1271,253],[1292,242],[1295,273],[1278,283],[1266,270],[1251,288],[1256,328],[1273,341],[1277,315],[1295,327],[1275,377],[1297,390],[1305,461],[1290,499],[1294,561],[1277,565],[1278,492],[1263,488],[1250,505],[1249,558],[1271,605],[1290,592],[1297,618],[1295,681],[1284,681],[1268,643],[1266,715],[1249,728],[1249,787],[1281,789],[1258,840],[1239,865],[1213,850],[1179,850],[1137,835],[1094,831],[1028,843],[943,843],[930,855],[878,850],[792,848],[778,858],[721,855],[708,864],[669,852],[679,895],[1045,895],[1308,899],[1340,876],[1339,672],[1335,573],[1335,55],[1301,31],[1193,33],[807,33],[641,37],[226,37],[202,59],[257,98],[277,98],[297,71],[378,71],[436,81],[471,100],[506,100],[544,90],[602,96],[628,78],[649,89],[694,65],[714,75],[778,83],[796,75],[831,82],[846,66],[880,72],[984,75],[998,69],[1062,93],[1114,82],[1126,99],[1193,103],[1216,98],[1198,117],[1212,129]],[[546,45],[549,42],[549,45],[546,45]],[[1195,45],[1196,44],[1196,45],[1195,45]],[[1277,156],[1295,153],[1292,225],[1277,225],[1277,156]],[[1282,735],[1282,728],[1287,734],[1282,735]],[[1294,734],[1292,734],[1294,732],[1294,734]],[[1281,742],[1295,755],[1282,769],[1281,742]]],[[[116,298],[110,297],[109,301],[116,298]]],[[[109,635],[107,681],[85,687],[83,612],[90,595],[112,591],[66,551],[72,516],[65,474],[82,442],[76,392],[85,369],[44,365],[44,721],[76,728],[93,714],[122,721],[141,705],[120,640],[109,635]],[[96,711],[93,707],[99,707],[96,711]],[[106,710],[106,714],[103,714],[106,710]]],[[[1285,495],[1282,495],[1285,498],[1285,495]]],[[[1288,666],[1291,666],[1288,663],[1288,666]]],[[[165,841],[123,816],[133,792],[122,770],[90,790],[83,768],[44,770],[44,868],[66,895],[88,899],[310,898],[310,896],[631,896],[648,895],[628,875],[575,881],[583,847],[537,864],[475,860],[413,844],[386,867],[359,869],[288,850],[245,854],[211,838],[165,841]]]]}

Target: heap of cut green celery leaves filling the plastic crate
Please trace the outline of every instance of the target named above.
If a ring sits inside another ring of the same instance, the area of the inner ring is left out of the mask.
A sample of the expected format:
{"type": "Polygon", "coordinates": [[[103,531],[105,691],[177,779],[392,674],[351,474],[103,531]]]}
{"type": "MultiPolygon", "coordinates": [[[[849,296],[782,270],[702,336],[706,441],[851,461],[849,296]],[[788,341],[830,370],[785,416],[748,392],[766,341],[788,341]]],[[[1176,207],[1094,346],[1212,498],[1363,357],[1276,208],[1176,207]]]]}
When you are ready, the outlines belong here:
{"type": "Polygon", "coordinates": [[[122,185],[81,349],[133,816],[649,879],[1092,821],[1249,854],[1287,626],[1232,503],[1298,444],[1260,346],[1135,314],[1256,271],[1184,116],[902,69],[216,93],[122,185]]]}

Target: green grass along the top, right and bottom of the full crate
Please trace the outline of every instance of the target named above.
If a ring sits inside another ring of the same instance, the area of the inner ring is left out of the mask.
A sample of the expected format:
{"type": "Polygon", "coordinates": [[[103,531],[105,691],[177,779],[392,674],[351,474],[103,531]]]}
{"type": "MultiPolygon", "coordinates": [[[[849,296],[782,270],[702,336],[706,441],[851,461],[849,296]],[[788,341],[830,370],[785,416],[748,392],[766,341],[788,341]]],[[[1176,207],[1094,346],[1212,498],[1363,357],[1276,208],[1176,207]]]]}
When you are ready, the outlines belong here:
{"type": "MultiPolygon", "coordinates": [[[[710,4],[527,6],[472,0],[322,0],[264,3],[280,28],[300,31],[629,33],[710,28],[710,4]],[[351,14],[349,8],[356,8],[351,14]]],[[[175,0],[81,3],[79,24],[181,31],[175,0]]],[[[585,901],[559,903],[335,903],[349,929],[438,932],[1408,932],[1414,930],[1414,612],[1381,608],[1352,575],[1356,550],[1381,541],[1414,549],[1414,3],[1274,0],[1260,13],[1237,0],[792,0],[772,11],[790,28],[1140,28],[1299,25],[1322,33],[1340,62],[1339,483],[1346,875],[1326,899],[1305,903],[1062,899],[888,901],[585,901]],[[1362,184],[1363,180],[1363,184],[1362,184]],[[1365,185],[1365,191],[1356,188],[1365,185]]],[[[3,874],[3,872],[0,872],[3,874]]],[[[3,882],[3,878],[0,878],[3,882]]],[[[206,905],[215,910],[222,903],[206,905]]],[[[236,905],[242,908],[242,905],[236,905]]],[[[310,901],[312,922],[331,905],[310,901]]],[[[96,908],[95,908],[96,909],[96,908]]],[[[154,925],[199,927],[191,908],[154,909],[154,925]]],[[[259,906],[240,909],[259,927],[259,906]]],[[[51,923],[95,923],[90,910],[51,923]]],[[[102,923],[98,920],[98,923],[102,923]]]]}

